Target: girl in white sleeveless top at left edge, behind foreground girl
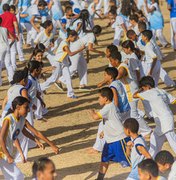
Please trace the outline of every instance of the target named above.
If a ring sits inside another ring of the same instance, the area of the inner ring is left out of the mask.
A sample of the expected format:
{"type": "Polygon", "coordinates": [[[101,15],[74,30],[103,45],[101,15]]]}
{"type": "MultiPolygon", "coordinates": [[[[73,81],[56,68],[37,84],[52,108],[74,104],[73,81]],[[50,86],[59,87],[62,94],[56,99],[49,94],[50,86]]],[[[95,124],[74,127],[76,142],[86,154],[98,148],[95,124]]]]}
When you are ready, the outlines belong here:
{"type": "Polygon", "coordinates": [[[2,103],[2,119],[5,117],[8,109],[12,105],[12,101],[17,96],[23,96],[28,99],[28,92],[25,86],[28,81],[28,69],[16,71],[13,76],[12,86],[8,89],[7,95],[2,103]]]}

